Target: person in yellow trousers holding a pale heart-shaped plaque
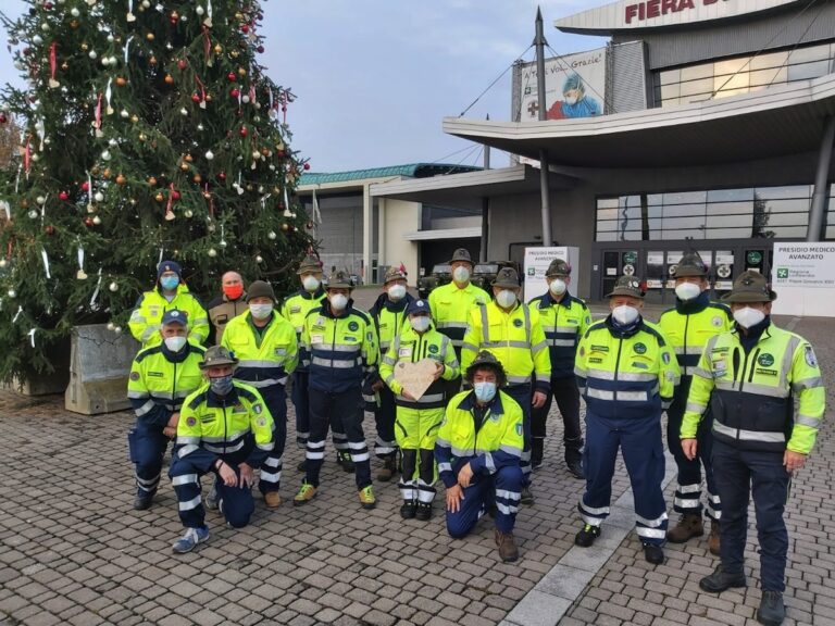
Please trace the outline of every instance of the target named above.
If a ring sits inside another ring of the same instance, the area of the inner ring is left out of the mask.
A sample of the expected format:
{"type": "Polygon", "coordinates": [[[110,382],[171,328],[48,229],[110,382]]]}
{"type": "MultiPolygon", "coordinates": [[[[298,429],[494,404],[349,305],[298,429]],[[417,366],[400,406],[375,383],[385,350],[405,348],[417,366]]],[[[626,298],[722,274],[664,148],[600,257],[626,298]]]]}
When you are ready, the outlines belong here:
{"type": "Polygon", "coordinates": [[[379,365],[379,376],[395,397],[397,415],[394,431],[402,455],[400,493],[403,519],[432,517],[435,499],[435,436],[447,406],[446,380],[459,375],[458,359],[449,337],[432,324],[432,311],[425,300],[413,300],[406,310],[409,328],[394,336],[379,365]],[[395,373],[403,363],[431,360],[436,365],[435,380],[420,398],[411,396],[395,373]]]}

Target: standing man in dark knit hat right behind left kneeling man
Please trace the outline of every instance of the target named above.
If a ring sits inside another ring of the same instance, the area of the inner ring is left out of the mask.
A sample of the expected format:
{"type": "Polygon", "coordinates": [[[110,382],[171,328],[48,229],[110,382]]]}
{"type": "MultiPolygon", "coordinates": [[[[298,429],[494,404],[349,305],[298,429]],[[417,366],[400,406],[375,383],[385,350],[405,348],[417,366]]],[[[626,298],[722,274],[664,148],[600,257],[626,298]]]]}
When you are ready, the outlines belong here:
{"type": "Polygon", "coordinates": [[[256,280],[247,293],[249,310],[234,317],[223,333],[221,345],[238,360],[235,378],[259,390],[275,424],[275,446],[261,467],[258,489],[267,509],[282,503],[278,488],[287,440],[287,378],[298,363],[296,330],[274,311],[275,293],[269,283],[256,280]]]}

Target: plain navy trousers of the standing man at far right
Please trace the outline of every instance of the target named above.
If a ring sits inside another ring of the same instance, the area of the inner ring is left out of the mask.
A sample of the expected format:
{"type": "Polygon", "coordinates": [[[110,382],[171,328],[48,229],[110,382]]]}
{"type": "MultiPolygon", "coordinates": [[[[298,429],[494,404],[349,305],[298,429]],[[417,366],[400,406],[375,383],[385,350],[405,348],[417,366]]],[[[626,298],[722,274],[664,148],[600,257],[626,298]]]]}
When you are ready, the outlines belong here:
{"type": "Polygon", "coordinates": [[[722,566],[727,572],[743,571],[750,494],[757,515],[762,590],[782,593],[786,588],[788,553],[788,531],[783,510],[790,480],[783,466],[783,452],[739,450],[714,440],[713,471],[722,499],[722,525],[719,529],[722,566]]]}

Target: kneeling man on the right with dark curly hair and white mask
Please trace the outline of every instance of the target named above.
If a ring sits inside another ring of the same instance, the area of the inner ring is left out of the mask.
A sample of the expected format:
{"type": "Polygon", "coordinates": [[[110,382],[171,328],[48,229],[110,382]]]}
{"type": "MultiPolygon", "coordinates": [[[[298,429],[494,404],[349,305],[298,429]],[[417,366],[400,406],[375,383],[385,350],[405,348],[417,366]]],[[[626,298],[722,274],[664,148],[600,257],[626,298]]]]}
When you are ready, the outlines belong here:
{"type": "Polygon", "coordinates": [[[468,367],[472,387],[447,405],[435,441],[435,460],[447,488],[447,531],[465,537],[485,512],[495,514],[502,561],[519,559],[513,540],[522,491],[522,408],[499,389],[504,368],[489,352],[468,367]]]}

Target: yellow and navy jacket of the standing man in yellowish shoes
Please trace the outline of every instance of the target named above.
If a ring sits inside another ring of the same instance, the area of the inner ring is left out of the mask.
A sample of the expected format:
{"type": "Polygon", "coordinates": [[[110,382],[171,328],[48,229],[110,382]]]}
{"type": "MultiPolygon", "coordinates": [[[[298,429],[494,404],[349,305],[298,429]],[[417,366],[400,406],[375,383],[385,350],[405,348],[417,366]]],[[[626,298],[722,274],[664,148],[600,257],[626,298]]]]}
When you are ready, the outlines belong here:
{"type": "Polygon", "coordinates": [[[304,318],[301,349],[310,371],[310,388],[340,393],[361,387],[377,372],[377,333],[367,314],[348,301],[345,313],[335,316],[325,300],[304,318]]]}

